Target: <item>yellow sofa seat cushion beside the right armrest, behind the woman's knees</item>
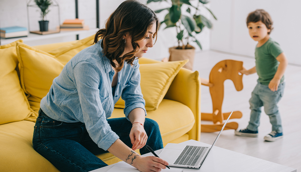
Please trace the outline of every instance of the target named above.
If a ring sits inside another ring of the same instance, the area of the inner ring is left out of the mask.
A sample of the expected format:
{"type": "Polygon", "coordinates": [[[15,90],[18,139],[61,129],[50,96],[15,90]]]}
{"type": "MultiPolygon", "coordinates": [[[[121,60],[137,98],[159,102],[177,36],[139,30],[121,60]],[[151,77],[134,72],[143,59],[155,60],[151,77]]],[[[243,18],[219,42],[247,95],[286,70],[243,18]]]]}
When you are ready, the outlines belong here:
{"type": "MultiPolygon", "coordinates": [[[[111,118],[122,117],[125,117],[123,109],[115,108],[111,118]]],[[[195,122],[191,109],[168,99],[163,99],[156,111],[147,111],[146,118],[153,119],[159,124],[163,144],[186,134],[195,122]]]]}

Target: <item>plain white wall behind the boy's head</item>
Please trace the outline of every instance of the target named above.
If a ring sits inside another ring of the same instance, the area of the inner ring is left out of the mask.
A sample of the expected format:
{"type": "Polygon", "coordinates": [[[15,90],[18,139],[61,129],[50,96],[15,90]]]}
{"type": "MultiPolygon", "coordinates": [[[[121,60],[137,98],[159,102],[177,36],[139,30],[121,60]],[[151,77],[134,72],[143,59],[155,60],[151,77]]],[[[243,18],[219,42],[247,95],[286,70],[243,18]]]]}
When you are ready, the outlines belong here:
{"type": "Polygon", "coordinates": [[[211,0],[218,20],[211,32],[211,49],[254,57],[255,42],[246,27],[248,13],[266,10],[274,22],[271,38],[278,42],[289,63],[301,64],[301,1],[289,0],[211,0]]]}

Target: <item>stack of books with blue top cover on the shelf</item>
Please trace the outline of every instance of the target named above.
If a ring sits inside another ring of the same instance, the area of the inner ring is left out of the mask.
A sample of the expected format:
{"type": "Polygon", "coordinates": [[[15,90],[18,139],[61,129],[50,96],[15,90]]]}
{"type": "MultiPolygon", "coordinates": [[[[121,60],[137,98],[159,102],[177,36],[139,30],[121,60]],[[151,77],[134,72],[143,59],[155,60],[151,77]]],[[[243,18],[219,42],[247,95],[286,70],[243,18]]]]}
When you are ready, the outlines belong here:
{"type": "Polygon", "coordinates": [[[13,26],[7,28],[0,28],[0,38],[17,38],[28,36],[27,28],[13,26]]]}

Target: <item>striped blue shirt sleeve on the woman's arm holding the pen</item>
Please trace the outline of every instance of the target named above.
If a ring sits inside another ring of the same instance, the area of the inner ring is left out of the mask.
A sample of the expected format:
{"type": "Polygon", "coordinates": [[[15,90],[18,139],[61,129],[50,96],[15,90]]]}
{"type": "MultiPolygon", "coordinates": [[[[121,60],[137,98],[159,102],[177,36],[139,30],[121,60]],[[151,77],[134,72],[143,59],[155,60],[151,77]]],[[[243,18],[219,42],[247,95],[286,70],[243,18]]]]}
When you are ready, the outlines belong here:
{"type": "Polygon", "coordinates": [[[99,148],[107,150],[119,136],[112,131],[102,107],[98,89],[102,82],[100,74],[87,61],[78,62],[73,72],[87,132],[99,148]]]}

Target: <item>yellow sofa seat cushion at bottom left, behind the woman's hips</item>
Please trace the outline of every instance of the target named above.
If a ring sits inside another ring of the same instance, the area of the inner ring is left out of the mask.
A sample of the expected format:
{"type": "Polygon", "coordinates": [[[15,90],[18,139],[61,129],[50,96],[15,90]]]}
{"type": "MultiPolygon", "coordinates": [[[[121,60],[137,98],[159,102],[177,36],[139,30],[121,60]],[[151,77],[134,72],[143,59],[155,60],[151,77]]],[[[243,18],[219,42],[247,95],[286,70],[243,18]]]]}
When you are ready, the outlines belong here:
{"type": "Polygon", "coordinates": [[[0,171],[59,172],[32,147],[34,122],[18,121],[0,125],[0,171]]]}

